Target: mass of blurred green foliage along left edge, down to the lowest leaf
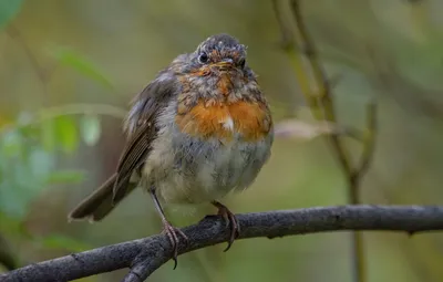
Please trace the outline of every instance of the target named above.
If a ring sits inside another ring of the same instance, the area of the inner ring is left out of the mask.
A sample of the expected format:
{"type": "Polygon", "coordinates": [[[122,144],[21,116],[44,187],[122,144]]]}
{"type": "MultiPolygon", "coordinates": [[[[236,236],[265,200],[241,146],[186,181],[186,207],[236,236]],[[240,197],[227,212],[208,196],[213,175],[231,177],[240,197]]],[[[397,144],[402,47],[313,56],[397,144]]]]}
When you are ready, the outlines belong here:
{"type": "Polygon", "coordinates": [[[27,238],[35,247],[79,251],[84,243],[62,234],[32,236],[25,228],[31,202],[44,189],[60,184],[80,184],[84,171],[59,169],[61,154],[72,156],[80,142],[94,146],[101,124],[95,115],[51,116],[22,114],[13,124],[3,126],[0,135],[0,233],[27,238]],[[44,118],[41,118],[43,116],[44,118]]]}

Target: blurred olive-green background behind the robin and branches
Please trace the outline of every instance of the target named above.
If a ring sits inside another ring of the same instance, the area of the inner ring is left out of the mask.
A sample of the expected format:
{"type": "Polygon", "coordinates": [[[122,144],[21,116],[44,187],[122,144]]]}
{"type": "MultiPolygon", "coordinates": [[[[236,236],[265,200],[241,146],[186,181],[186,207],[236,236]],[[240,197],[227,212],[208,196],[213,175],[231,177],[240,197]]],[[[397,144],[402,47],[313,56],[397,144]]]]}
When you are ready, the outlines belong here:
{"type": "MultiPolygon", "coordinates": [[[[368,101],[379,104],[361,201],[442,205],[443,2],[301,2],[334,81],[340,125],[364,127],[368,101]]],[[[331,147],[311,134],[313,119],[271,1],[1,0],[0,29],[0,273],[159,232],[143,191],[100,223],[68,223],[66,213],[113,171],[132,96],[176,55],[218,32],[248,45],[277,124],[303,124],[301,133],[276,139],[254,187],[225,203],[249,212],[347,202],[347,180],[331,147]]],[[[347,146],[357,156],[359,144],[347,146]]],[[[177,226],[208,212],[214,209],[168,209],[177,226]]],[[[182,255],[175,271],[168,262],[150,281],[351,281],[348,232],[224,248],[182,255]]],[[[442,281],[442,234],[367,232],[364,248],[369,281],[442,281]]],[[[81,281],[120,281],[125,273],[81,281]]]]}

